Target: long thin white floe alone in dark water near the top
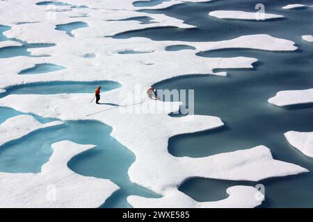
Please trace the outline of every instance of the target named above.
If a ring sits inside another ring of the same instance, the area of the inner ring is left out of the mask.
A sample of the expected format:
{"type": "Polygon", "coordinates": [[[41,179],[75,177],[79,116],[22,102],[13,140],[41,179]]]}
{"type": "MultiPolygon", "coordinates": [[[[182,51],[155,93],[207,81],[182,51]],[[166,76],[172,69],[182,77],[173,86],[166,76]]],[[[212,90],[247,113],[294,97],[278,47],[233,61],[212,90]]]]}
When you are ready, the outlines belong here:
{"type": "MultiPolygon", "coordinates": [[[[236,10],[216,10],[209,12],[212,17],[217,17],[219,19],[243,19],[243,20],[257,20],[257,12],[243,12],[236,10]]],[[[284,17],[283,15],[275,15],[264,13],[262,19],[278,19],[284,17]]]]}

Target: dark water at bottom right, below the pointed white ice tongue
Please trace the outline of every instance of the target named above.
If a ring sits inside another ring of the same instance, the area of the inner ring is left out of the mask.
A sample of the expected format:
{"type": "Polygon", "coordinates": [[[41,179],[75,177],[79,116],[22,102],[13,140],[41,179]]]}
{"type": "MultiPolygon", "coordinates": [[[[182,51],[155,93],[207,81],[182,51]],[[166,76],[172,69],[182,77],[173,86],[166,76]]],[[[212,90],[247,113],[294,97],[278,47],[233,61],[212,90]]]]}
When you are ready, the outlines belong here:
{"type": "Polygon", "coordinates": [[[312,177],[310,173],[305,173],[300,176],[272,178],[259,182],[192,178],[186,180],[179,190],[200,202],[216,201],[227,198],[228,187],[236,185],[255,187],[261,183],[265,186],[265,201],[259,208],[312,207],[312,191],[310,193],[310,190],[312,190],[313,183],[310,177],[312,177]]]}

